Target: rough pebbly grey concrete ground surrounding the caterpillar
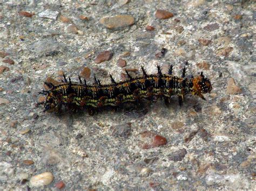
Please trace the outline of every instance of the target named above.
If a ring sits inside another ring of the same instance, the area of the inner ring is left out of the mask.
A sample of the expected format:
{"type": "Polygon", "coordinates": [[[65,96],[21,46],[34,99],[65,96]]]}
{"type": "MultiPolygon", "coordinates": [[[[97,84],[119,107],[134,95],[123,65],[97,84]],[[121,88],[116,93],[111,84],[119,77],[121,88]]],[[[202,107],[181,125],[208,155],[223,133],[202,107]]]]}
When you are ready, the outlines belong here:
{"type": "Polygon", "coordinates": [[[43,2],[0,3],[0,190],[35,189],[32,176],[44,172],[53,181],[36,189],[60,181],[67,190],[255,189],[253,1],[43,2]],[[157,9],[174,16],[158,19],[157,9]],[[115,15],[134,24],[99,22],[115,15]],[[103,51],[113,57],[96,63],[103,51]],[[76,81],[88,67],[90,82],[94,74],[110,82],[108,73],[122,80],[119,58],[148,73],[170,63],[177,75],[185,64],[190,74],[203,70],[212,93],[187,96],[181,108],[174,97],[169,108],[158,101],[95,116],[57,116],[35,104],[45,79],[62,72],[76,81]],[[167,144],[143,149],[144,131],[167,144]]]}

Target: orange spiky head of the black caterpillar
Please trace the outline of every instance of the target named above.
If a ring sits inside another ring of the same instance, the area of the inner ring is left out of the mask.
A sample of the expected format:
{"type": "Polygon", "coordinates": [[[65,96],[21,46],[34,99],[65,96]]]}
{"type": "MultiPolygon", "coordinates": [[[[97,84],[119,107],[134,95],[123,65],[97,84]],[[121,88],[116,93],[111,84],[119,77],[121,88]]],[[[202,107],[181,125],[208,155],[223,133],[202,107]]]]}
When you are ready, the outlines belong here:
{"type": "Polygon", "coordinates": [[[205,100],[203,94],[211,93],[212,84],[209,79],[207,79],[203,72],[199,76],[192,79],[193,87],[191,89],[192,95],[198,95],[203,100],[205,100]]]}

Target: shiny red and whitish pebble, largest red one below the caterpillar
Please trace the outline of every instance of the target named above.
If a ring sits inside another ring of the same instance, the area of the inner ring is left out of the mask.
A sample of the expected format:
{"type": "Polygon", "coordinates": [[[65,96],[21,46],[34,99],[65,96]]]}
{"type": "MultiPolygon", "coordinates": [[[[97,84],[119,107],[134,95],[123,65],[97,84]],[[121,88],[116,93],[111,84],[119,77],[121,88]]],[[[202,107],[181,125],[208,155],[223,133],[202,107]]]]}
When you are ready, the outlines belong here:
{"type": "Polygon", "coordinates": [[[143,143],[142,144],[143,149],[159,147],[167,144],[167,140],[165,137],[162,137],[150,131],[144,131],[143,133],[141,133],[140,138],[143,143]]]}

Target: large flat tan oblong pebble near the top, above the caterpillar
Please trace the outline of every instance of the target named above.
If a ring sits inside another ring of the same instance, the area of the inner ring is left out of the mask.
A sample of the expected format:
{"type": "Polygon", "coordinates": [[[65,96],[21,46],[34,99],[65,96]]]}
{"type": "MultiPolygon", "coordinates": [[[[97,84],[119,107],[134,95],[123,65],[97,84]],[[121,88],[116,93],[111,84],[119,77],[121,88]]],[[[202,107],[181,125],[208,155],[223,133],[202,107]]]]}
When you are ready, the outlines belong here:
{"type": "Polygon", "coordinates": [[[130,15],[117,15],[113,17],[104,17],[99,20],[107,29],[118,29],[134,24],[134,18],[130,15]]]}

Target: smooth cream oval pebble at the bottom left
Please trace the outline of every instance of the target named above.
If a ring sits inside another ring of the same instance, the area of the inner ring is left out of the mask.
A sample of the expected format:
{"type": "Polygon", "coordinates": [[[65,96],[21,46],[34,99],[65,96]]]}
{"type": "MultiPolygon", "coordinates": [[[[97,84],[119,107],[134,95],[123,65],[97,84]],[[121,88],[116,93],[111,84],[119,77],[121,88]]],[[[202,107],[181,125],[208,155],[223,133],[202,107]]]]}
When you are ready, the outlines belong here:
{"type": "Polygon", "coordinates": [[[30,185],[32,187],[39,187],[44,185],[49,185],[53,180],[53,175],[51,172],[44,172],[42,174],[38,174],[32,176],[30,179],[30,185]]]}

